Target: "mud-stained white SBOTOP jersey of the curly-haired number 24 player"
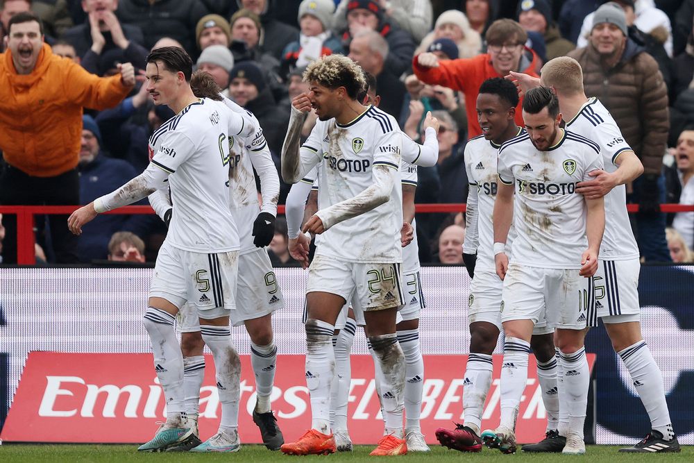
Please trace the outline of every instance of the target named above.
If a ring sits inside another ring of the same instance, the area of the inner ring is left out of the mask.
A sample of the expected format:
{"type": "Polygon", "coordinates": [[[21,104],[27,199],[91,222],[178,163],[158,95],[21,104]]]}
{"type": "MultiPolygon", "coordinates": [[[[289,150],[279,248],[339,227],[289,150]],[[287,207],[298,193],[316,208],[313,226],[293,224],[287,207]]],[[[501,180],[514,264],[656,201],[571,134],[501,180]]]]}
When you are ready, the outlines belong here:
{"type": "Polygon", "coordinates": [[[392,169],[389,175],[397,180],[387,202],[325,230],[316,255],[346,262],[402,262],[403,194],[398,172],[402,139],[396,120],[373,106],[346,125],[335,119],[316,123],[301,146],[301,158],[308,169],[318,164],[319,210],[371,187],[377,166],[392,169]]]}

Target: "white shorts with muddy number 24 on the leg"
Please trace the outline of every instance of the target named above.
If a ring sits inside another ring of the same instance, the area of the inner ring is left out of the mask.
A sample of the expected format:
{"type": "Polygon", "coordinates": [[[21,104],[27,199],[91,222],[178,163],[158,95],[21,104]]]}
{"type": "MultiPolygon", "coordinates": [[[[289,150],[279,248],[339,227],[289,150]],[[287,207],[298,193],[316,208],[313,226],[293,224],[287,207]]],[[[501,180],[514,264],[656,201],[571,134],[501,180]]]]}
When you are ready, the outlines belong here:
{"type": "Polygon", "coordinates": [[[308,269],[306,293],[328,292],[352,301],[358,312],[401,308],[404,304],[400,264],[362,264],[316,255],[308,269]]]}

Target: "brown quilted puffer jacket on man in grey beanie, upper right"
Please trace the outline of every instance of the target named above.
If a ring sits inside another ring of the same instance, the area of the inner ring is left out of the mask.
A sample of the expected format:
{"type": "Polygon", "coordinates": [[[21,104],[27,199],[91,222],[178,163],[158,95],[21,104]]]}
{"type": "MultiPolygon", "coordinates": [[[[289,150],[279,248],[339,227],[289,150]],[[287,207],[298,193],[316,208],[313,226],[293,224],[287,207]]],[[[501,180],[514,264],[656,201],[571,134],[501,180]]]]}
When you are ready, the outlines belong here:
{"type": "Polygon", "coordinates": [[[658,63],[627,39],[619,62],[609,69],[592,45],[568,53],[583,68],[586,95],[597,96],[614,117],[645,174],[661,173],[670,117],[668,89],[658,63]]]}

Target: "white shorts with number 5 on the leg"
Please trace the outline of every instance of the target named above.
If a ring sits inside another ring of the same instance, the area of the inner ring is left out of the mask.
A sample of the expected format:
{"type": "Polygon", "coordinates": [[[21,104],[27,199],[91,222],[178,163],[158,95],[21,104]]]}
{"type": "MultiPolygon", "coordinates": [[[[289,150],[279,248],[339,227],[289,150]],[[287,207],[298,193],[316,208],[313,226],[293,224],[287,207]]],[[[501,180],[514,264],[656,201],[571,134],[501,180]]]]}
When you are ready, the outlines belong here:
{"type": "Polygon", "coordinates": [[[154,267],[150,297],[182,310],[186,303],[202,319],[229,316],[236,308],[239,251],[194,253],[164,242],[154,267]]]}

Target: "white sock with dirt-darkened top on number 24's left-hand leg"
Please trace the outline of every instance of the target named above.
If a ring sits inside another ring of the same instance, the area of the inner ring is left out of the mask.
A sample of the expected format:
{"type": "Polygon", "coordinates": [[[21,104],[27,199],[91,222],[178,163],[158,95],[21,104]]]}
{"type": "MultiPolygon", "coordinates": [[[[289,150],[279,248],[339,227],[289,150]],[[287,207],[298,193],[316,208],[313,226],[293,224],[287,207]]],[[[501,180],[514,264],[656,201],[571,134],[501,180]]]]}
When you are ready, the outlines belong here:
{"type": "Polygon", "coordinates": [[[330,387],[335,376],[332,333],[335,326],[325,321],[306,321],[306,386],[311,397],[311,427],[330,434],[330,387]]]}

